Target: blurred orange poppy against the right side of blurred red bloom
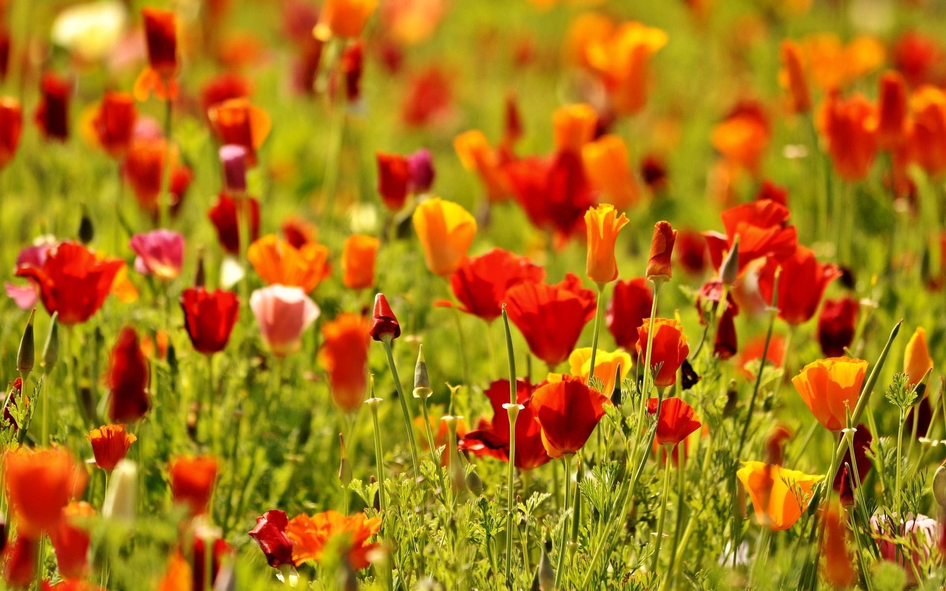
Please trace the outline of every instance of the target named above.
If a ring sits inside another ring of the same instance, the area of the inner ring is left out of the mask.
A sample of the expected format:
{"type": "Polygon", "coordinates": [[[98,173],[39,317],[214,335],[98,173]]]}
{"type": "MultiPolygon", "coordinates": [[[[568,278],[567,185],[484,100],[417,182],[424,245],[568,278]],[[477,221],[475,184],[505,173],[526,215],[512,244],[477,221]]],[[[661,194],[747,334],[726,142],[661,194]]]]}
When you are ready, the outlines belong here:
{"type": "Polygon", "coordinates": [[[582,148],[588,180],[618,209],[626,209],[638,200],[638,183],[627,162],[627,147],[617,135],[604,135],[582,148]]]}

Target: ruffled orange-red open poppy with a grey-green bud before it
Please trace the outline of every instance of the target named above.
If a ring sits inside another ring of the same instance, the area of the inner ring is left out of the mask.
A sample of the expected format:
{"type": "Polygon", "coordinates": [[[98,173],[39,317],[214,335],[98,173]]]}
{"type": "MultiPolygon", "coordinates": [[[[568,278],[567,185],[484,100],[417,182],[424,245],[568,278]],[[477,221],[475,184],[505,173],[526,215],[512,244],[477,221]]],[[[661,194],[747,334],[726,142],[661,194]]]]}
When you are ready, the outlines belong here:
{"type": "Polygon", "coordinates": [[[755,200],[730,207],[720,217],[726,234],[705,232],[713,268],[719,269],[723,256],[739,235],[739,271],[752,261],[770,256],[777,261],[795,252],[798,235],[788,224],[788,208],[775,200],[755,200]]]}

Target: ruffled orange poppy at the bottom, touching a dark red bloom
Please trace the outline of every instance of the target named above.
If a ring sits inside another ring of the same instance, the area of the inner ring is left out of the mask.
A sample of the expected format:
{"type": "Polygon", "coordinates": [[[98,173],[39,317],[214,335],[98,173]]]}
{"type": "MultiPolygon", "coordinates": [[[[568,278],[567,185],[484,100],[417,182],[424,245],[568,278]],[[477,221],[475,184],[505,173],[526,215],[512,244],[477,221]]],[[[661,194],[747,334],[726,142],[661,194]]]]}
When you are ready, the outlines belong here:
{"type": "Polygon", "coordinates": [[[320,562],[324,548],[342,538],[348,565],[354,570],[361,570],[371,564],[368,556],[380,547],[377,542],[368,542],[368,538],[376,535],[380,529],[379,515],[368,517],[364,513],[356,513],[346,517],[342,513],[326,511],[312,516],[296,515],[289,519],[286,537],[292,541],[292,562],[296,566],[308,561],[320,562]]]}

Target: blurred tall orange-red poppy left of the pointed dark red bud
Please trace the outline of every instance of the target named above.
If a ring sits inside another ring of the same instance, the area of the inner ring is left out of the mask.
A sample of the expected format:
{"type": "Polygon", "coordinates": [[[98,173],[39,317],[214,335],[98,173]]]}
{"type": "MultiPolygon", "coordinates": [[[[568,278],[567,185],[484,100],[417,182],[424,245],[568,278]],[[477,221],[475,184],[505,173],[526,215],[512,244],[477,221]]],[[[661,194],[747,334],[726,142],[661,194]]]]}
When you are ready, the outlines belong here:
{"type": "Polygon", "coordinates": [[[364,401],[370,337],[371,322],[358,314],[342,312],[322,326],[319,365],[328,374],[332,399],[346,412],[358,410],[364,401]]]}

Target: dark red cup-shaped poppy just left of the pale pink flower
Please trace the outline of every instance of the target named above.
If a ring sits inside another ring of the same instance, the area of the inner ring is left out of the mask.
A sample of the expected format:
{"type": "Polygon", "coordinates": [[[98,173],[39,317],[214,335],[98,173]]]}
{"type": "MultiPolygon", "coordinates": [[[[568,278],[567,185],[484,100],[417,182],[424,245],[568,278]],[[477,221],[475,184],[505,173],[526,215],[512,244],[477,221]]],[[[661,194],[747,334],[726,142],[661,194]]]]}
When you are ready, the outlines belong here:
{"type": "Polygon", "coordinates": [[[205,355],[223,351],[239,314],[236,293],[187,287],[181,292],[181,309],[184,310],[184,328],[194,349],[205,355]]]}

